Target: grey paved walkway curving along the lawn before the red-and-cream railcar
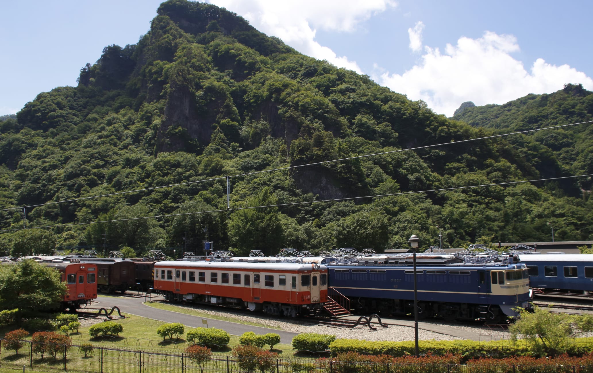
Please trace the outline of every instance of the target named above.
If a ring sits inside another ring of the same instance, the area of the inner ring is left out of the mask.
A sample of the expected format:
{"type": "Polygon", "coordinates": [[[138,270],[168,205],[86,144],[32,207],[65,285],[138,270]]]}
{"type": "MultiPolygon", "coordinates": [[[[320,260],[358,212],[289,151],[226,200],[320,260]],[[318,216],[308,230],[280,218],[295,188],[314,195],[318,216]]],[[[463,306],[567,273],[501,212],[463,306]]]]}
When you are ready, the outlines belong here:
{"type": "MultiPolygon", "coordinates": [[[[160,298],[157,298],[160,299],[160,298]]],[[[215,319],[208,319],[207,317],[193,316],[175,311],[165,311],[159,308],[149,307],[144,302],[144,297],[99,297],[98,307],[114,307],[117,306],[122,310],[122,313],[129,313],[136,316],[148,317],[165,323],[181,323],[185,326],[201,327],[202,319],[208,321],[208,327],[216,327],[218,329],[226,330],[232,335],[243,335],[245,332],[255,332],[256,334],[276,333],[280,335],[280,343],[290,345],[292,337],[297,333],[284,332],[279,329],[272,329],[267,327],[251,326],[232,321],[221,321],[215,319]]],[[[93,306],[96,307],[96,306],[93,306]]]]}

